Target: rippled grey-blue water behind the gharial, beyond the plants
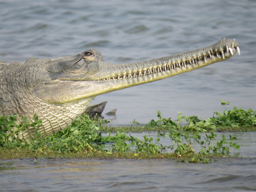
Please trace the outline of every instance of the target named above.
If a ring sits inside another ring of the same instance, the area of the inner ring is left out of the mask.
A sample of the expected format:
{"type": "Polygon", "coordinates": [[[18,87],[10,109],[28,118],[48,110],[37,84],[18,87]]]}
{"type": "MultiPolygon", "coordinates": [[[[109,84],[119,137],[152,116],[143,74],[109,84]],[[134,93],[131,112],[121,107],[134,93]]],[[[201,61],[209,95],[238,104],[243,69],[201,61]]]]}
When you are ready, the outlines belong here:
{"type": "MultiPolygon", "coordinates": [[[[106,62],[127,63],[177,54],[226,37],[241,56],[206,68],[97,96],[113,124],[162,116],[200,118],[222,112],[220,99],[256,109],[256,1],[254,0],[0,0],[0,60],[54,58],[97,48],[106,62]],[[111,117],[109,117],[111,119],[111,117]]],[[[108,118],[108,117],[106,117],[108,118]]]]}

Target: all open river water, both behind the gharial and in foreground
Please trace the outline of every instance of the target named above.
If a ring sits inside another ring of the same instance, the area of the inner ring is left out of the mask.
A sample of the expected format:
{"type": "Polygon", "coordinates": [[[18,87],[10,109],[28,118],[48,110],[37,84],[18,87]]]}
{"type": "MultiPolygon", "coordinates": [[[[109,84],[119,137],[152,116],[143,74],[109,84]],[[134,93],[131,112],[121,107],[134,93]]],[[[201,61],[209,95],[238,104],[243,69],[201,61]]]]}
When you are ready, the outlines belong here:
{"type": "MultiPolygon", "coordinates": [[[[0,0],[0,60],[73,55],[90,48],[106,62],[127,63],[177,54],[226,37],[241,56],[96,97],[117,108],[112,124],[162,116],[212,116],[233,106],[255,110],[256,1],[254,0],[0,0]],[[221,106],[220,99],[230,102],[221,106]]],[[[241,134],[241,154],[211,164],[175,160],[5,160],[0,191],[253,191],[255,135],[241,134]],[[250,137],[250,142],[246,138],[250,137]],[[242,143],[243,143],[242,142],[242,143]],[[245,154],[243,154],[243,152],[245,154]]]]}

